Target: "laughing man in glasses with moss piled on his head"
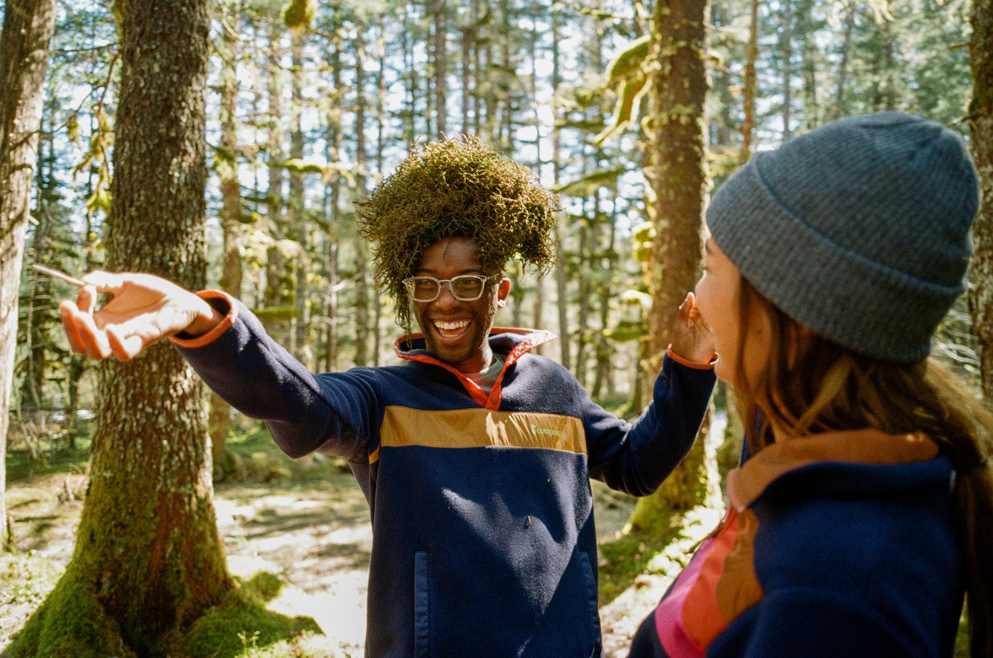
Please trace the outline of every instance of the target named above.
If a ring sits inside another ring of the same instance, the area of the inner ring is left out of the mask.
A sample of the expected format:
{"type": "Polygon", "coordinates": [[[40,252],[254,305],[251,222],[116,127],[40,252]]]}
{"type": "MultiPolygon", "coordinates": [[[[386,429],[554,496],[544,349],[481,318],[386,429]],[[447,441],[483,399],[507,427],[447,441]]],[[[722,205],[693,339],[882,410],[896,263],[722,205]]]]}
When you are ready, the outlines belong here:
{"type": "Polygon", "coordinates": [[[533,174],[479,141],[440,142],[360,207],[376,280],[421,329],[396,341],[405,365],[314,375],[232,297],[143,274],[84,277],[62,305],[72,347],[128,359],[168,335],[287,455],[349,462],[372,516],[366,655],[600,655],[589,478],[645,495],[692,445],[714,384],[692,297],[627,423],[528,353],[555,336],[494,327],[507,260],[553,263],[555,201],[533,174]],[[114,299],[94,312],[96,292],[114,299]]]}

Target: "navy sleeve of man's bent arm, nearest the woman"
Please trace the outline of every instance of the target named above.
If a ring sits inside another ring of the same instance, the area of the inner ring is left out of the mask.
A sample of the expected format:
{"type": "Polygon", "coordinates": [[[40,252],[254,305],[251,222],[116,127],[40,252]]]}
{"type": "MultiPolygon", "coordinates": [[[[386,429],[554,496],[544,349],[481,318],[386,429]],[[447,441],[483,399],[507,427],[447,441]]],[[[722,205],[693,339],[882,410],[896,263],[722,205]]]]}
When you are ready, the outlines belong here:
{"type": "Polygon", "coordinates": [[[671,350],[663,358],[651,404],[634,423],[595,404],[580,387],[590,474],[611,488],[651,493],[692,447],[716,379],[711,364],[677,358],[671,350]]]}

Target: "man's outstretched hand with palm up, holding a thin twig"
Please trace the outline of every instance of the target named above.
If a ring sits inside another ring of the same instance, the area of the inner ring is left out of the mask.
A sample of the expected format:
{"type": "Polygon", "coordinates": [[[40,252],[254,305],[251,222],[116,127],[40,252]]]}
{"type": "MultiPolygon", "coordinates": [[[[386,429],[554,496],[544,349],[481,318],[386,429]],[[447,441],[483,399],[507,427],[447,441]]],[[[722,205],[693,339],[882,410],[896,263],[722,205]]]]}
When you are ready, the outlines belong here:
{"type": "Polygon", "coordinates": [[[59,305],[72,351],[126,361],[159,338],[187,330],[206,333],[221,316],[207,302],[151,274],[90,272],[73,304],[59,305]],[[96,294],[114,296],[96,310],[96,294]]]}

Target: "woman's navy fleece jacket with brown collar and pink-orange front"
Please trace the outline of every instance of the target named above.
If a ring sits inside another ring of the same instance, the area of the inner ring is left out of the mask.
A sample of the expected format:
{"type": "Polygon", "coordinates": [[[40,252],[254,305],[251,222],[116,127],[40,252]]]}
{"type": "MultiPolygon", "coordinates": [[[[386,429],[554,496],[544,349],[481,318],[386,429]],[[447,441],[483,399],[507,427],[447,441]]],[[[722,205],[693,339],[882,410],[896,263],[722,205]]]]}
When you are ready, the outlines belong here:
{"type": "Polygon", "coordinates": [[[963,583],[954,471],[921,433],[772,444],[638,628],[631,658],[949,658],[963,583]]]}

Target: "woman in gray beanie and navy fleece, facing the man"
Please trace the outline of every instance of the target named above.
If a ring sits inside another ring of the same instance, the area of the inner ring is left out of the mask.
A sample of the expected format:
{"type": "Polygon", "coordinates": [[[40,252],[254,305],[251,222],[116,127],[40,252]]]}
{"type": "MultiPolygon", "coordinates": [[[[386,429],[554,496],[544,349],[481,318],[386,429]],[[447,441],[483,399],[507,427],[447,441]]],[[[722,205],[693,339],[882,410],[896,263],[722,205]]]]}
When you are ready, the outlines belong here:
{"type": "Polygon", "coordinates": [[[730,509],[632,658],[991,655],[993,418],[928,356],[965,291],[976,173],[898,113],[760,153],[707,211],[696,308],[747,422],[730,509]]]}

